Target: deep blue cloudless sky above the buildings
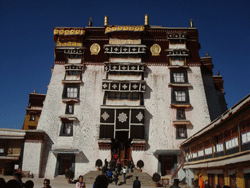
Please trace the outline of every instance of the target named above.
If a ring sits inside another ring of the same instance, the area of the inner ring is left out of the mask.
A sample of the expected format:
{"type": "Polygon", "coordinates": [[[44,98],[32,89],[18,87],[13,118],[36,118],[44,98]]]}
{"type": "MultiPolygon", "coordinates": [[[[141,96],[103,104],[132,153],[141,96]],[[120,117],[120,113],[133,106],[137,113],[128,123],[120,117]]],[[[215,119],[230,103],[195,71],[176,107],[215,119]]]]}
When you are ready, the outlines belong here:
{"type": "Polygon", "coordinates": [[[0,128],[21,129],[29,93],[46,93],[54,63],[54,27],[143,25],[199,31],[200,56],[208,51],[224,79],[228,108],[250,92],[250,1],[48,1],[0,2],[0,128]]]}

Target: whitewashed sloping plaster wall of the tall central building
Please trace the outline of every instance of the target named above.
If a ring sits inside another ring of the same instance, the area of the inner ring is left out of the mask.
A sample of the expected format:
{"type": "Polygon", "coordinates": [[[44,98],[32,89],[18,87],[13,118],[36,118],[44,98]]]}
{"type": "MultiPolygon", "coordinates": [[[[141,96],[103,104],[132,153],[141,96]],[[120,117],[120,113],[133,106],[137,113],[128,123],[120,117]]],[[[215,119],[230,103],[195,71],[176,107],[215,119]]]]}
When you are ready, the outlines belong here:
{"type": "MultiPolygon", "coordinates": [[[[95,161],[110,159],[111,152],[98,149],[100,106],[103,104],[104,93],[102,80],[106,73],[100,65],[88,65],[82,74],[83,84],[80,85],[80,102],[75,104],[74,116],[79,121],[74,122],[73,137],[59,136],[61,120],[59,116],[65,114],[66,104],[62,102],[65,75],[63,65],[55,65],[39,120],[38,129],[44,130],[52,141],[51,149],[78,149],[76,154],[75,175],[84,175],[95,170],[95,161]]],[[[188,136],[210,123],[210,116],[199,67],[188,69],[188,80],[191,109],[186,110],[186,119],[191,122],[188,136]]],[[[132,151],[135,164],[144,161],[143,171],[152,175],[159,172],[158,157],[153,155],[156,150],[178,150],[183,139],[176,139],[176,109],[170,108],[171,87],[170,70],[167,66],[148,66],[145,72],[147,83],[144,94],[145,105],[145,151],[132,151]]],[[[116,104],[120,105],[120,104],[116,104]]],[[[56,155],[49,153],[45,176],[53,178],[55,174],[56,155]]],[[[180,171],[182,176],[183,172],[180,171]]]]}

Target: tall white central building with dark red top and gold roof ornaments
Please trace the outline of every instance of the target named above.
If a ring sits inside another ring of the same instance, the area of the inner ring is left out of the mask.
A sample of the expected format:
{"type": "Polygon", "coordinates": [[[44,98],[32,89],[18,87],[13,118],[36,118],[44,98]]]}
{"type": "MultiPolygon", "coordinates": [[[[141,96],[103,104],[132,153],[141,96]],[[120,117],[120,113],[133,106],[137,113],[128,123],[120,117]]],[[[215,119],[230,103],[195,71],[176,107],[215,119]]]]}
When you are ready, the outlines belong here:
{"type": "MultiPolygon", "coordinates": [[[[103,27],[56,27],[54,41],[37,127],[48,135],[46,177],[68,169],[86,174],[115,149],[123,163],[143,160],[148,174],[170,176],[181,160],[181,142],[226,108],[218,99],[223,85],[215,87],[211,58],[199,56],[192,23],[150,26],[146,15],[144,25],[109,25],[105,17],[103,27]]],[[[183,170],[178,177],[185,177],[183,170]]]]}

